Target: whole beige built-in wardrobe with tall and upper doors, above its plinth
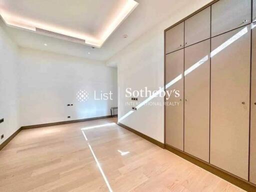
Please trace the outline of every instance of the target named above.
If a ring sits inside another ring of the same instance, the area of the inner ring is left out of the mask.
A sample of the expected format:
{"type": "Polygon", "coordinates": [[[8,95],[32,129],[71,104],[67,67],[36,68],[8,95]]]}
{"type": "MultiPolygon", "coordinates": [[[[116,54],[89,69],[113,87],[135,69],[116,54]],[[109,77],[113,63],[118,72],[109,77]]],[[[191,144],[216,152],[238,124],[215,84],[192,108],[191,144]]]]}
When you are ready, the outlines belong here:
{"type": "Polygon", "coordinates": [[[164,31],[165,145],[256,184],[256,0],[215,0],[164,31]]]}

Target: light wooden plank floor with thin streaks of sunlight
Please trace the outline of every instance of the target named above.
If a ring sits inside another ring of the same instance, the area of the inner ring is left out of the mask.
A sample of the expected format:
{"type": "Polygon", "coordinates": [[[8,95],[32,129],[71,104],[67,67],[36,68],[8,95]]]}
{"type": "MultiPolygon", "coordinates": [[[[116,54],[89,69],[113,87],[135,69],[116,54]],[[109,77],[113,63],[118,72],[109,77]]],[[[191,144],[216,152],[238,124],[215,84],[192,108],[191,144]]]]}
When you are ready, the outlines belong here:
{"type": "Polygon", "coordinates": [[[243,191],[113,122],[22,130],[0,151],[0,191],[243,191]]]}

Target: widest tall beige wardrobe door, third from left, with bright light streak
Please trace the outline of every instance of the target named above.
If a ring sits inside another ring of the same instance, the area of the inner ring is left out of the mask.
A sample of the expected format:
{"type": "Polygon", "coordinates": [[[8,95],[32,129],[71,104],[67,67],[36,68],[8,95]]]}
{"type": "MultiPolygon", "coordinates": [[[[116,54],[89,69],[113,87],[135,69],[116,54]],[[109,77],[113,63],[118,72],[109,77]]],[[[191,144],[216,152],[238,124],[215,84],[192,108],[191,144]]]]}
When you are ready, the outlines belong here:
{"type": "Polygon", "coordinates": [[[250,24],[211,39],[210,163],[248,179],[250,24]]]}

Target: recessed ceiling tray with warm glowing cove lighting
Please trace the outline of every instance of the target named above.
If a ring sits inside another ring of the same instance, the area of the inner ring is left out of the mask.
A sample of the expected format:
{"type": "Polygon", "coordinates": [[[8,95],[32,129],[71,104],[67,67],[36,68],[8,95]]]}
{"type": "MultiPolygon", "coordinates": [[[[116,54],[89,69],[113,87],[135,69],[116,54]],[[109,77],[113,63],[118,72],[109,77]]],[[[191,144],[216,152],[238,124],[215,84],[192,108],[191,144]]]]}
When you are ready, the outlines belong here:
{"type": "Polygon", "coordinates": [[[6,25],[101,47],[137,6],[134,0],[0,0],[6,25]]]}

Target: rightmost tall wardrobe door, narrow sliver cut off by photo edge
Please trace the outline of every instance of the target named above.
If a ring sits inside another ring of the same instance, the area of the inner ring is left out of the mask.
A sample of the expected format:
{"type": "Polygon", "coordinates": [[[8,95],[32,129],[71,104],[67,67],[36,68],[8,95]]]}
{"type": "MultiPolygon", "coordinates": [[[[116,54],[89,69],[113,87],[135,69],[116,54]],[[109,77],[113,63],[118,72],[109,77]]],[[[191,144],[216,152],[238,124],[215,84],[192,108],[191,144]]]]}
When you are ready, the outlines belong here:
{"type": "Polygon", "coordinates": [[[250,182],[256,184],[256,23],[252,29],[251,106],[250,106],[250,182]]]}

